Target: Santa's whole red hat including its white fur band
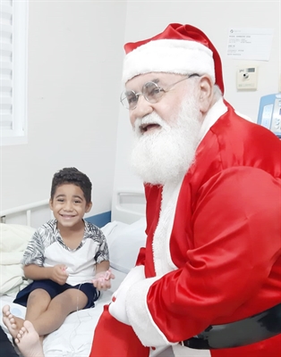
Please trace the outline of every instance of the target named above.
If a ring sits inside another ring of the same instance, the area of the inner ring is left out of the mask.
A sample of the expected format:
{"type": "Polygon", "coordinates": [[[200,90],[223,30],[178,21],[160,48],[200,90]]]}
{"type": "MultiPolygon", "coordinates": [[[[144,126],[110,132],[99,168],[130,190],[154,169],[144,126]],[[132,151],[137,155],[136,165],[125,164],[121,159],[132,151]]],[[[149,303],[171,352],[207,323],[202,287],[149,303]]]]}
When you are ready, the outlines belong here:
{"type": "Polygon", "coordinates": [[[224,93],[219,54],[209,38],[191,25],[172,23],[156,35],[124,46],[123,82],[149,72],[209,74],[224,93]]]}

